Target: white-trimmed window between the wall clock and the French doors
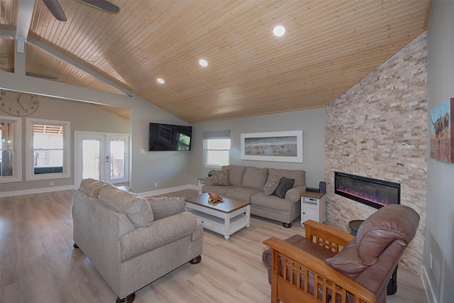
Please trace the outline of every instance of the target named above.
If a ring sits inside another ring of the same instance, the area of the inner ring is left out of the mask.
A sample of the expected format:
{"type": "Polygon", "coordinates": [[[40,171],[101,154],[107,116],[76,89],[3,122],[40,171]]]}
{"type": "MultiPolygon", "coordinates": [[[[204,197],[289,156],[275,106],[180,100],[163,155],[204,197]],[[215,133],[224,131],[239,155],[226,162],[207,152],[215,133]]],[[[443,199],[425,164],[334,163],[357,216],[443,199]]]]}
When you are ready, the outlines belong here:
{"type": "Polygon", "coordinates": [[[70,122],[27,119],[26,180],[70,177],[70,122]]]}

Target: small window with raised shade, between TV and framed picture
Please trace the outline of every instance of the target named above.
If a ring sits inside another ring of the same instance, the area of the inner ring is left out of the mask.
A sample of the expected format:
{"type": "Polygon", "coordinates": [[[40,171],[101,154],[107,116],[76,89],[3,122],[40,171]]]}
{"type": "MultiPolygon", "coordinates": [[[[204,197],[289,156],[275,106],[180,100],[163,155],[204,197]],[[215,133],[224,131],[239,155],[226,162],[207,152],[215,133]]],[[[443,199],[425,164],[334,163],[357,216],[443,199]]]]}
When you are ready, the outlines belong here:
{"type": "Polygon", "coordinates": [[[204,132],[205,167],[218,168],[230,160],[230,131],[204,132]]]}

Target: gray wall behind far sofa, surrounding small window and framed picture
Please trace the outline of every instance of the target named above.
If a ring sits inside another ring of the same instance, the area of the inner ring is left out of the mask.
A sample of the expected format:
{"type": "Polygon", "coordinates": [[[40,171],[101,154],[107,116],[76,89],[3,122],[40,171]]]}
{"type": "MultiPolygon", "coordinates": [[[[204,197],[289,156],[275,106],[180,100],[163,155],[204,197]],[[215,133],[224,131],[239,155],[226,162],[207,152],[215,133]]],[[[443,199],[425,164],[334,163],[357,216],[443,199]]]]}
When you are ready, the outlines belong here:
{"type": "Polygon", "coordinates": [[[231,164],[306,170],[306,186],[318,188],[319,182],[324,180],[324,125],[325,111],[323,108],[195,124],[193,129],[194,143],[192,145],[193,157],[190,168],[191,184],[197,184],[197,178],[206,177],[211,170],[204,167],[202,133],[204,131],[229,129],[231,130],[231,164]],[[297,130],[303,131],[302,163],[241,160],[241,133],[297,130]]]}

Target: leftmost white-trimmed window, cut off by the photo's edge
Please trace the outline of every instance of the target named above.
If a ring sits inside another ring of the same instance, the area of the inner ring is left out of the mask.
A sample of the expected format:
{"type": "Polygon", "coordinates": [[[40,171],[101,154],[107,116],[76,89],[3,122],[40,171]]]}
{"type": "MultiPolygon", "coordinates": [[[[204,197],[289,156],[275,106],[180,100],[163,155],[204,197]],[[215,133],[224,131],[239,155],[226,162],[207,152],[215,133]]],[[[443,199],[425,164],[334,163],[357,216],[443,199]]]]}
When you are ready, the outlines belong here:
{"type": "Polygon", "coordinates": [[[22,119],[0,118],[0,183],[22,181],[22,119]]]}

